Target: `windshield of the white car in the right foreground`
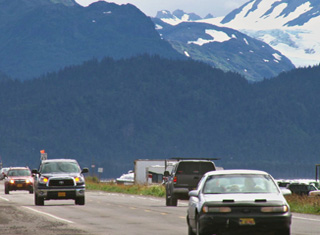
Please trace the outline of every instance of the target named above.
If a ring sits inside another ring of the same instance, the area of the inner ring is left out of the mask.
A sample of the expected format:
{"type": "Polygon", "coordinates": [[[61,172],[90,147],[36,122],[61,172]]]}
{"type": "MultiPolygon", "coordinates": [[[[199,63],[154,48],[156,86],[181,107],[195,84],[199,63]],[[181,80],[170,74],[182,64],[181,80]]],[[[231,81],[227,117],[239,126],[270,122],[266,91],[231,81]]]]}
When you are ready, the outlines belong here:
{"type": "Polygon", "coordinates": [[[212,175],[207,178],[203,188],[204,194],[278,192],[270,176],[258,174],[212,175]]]}

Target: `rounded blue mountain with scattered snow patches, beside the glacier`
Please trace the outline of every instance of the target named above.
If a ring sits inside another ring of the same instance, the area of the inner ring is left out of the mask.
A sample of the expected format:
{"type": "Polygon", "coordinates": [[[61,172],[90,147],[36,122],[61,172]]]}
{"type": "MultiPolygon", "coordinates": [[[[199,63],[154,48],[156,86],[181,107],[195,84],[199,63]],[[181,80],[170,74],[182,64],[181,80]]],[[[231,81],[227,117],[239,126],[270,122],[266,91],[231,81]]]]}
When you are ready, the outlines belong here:
{"type": "Polygon", "coordinates": [[[250,81],[277,76],[294,68],[291,61],[267,43],[237,30],[193,21],[189,14],[162,11],[153,21],[159,34],[181,54],[250,81]]]}

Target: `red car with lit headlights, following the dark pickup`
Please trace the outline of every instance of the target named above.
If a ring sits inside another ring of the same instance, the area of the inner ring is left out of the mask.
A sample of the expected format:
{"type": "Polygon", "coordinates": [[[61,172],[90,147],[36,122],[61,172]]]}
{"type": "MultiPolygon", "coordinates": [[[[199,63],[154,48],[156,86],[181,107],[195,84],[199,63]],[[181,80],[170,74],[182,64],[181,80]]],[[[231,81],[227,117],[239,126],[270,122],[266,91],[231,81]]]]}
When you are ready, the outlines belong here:
{"type": "Polygon", "coordinates": [[[10,191],[27,190],[33,193],[33,178],[28,167],[11,167],[8,169],[5,182],[4,192],[9,194],[10,191]]]}

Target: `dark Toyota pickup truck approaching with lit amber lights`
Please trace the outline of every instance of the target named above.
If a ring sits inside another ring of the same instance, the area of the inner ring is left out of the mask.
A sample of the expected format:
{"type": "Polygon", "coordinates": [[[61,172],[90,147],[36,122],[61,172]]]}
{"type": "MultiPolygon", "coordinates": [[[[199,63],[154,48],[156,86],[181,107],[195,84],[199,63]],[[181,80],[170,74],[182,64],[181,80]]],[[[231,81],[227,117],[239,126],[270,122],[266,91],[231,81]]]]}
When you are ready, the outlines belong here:
{"type": "Polygon", "coordinates": [[[83,173],[73,159],[43,160],[39,170],[34,169],[34,202],[43,206],[44,200],[74,199],[76,205],[85,204],[85,181],[83,173]]]}

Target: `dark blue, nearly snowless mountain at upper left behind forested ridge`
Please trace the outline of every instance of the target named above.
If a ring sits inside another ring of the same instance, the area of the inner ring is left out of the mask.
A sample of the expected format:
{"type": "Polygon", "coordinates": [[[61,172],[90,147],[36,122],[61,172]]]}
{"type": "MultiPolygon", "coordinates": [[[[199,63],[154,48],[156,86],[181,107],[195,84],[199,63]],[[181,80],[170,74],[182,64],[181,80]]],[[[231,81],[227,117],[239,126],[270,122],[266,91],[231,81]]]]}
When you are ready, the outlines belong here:
{"type": "Polygon", "coordinates": [[[0,71],[31,79],[92,58],[182,58],[135,6],[74,0],[0,0],[0,71]]]}

